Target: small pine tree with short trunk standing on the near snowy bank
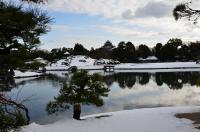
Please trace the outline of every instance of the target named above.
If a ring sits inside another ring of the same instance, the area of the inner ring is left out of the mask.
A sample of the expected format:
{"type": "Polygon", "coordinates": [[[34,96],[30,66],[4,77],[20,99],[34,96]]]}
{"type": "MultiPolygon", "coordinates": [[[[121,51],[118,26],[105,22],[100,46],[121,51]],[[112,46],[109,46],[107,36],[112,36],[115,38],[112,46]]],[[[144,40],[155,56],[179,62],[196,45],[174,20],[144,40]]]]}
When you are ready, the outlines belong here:
{"type": "Polygon", "coordinates": [[[74,105],[73,118],[80,119],[80,104],[103,105],[103,99],[106,97],[108,88],[102,83],[102,78],[98,74],[89,75],[86,71],[75,72],[68,84],[60,90],[60,94],[50,101],[47,105],[49,114],[62,111],[69,108],[69,104],[74,105]]]}

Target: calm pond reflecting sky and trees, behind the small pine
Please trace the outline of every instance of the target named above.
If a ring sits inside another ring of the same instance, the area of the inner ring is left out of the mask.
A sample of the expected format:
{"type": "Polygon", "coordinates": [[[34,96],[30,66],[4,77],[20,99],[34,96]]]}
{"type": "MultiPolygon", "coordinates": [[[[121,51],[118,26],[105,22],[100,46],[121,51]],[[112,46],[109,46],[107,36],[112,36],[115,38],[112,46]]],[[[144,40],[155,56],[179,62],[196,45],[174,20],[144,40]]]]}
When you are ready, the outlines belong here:
{"type": "MultiPolygon", "coordinates": [[[[58,72],[57,72],[58,73],[58,72]]],[[[81,116],[127,109],[200,105],[200,72],[166,73],[103,73],[103,82],[109,87],[102,106],[81,104],[81,116]]],[[[16,79],[16,86],[3,91],[28,109],[31,122],[52,123],[72,119],[73,106],[49,115],[47,104],[58,96],[69,75],[51,75],[40,78],[16,79]]]]}

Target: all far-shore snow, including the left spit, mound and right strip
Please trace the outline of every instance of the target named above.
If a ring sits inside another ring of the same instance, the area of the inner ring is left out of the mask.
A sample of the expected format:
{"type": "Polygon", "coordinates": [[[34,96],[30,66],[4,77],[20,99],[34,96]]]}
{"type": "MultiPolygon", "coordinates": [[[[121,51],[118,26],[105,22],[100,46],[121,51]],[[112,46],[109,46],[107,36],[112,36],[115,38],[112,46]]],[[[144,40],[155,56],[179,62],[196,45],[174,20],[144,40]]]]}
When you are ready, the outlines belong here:
{"type": "MultiPolygon", "coordinates": [[[[103,59],[108,62],[108,59],[103,59]]],[[[47,71],[67,71],[71,66],[85,70],[103,70],[104,65],[94,65],[95,59],[86,56],[71,56],[46,66],[47,71]],[[67,64],[67,65],[66,65],[67,64]]],[[[184,72],[200,71],[200,64],[196,62],[165,62],[165,63],[121,63],[115,65],[115,72],[184,72]]],[[[21,72],[15,70],[15,78],[40,76],[37,72],[21,72]]]]}

